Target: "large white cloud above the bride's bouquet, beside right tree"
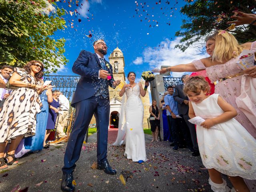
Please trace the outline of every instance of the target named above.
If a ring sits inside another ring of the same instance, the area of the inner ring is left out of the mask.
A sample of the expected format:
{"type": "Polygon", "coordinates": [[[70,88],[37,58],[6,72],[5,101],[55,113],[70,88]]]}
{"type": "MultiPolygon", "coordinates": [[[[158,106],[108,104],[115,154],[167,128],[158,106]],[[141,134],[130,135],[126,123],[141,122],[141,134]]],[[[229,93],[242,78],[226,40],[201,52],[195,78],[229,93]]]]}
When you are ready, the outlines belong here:
{"type": "MultiPolygon", "coordinates": [[[[207,54],[202,55],[200,48],[188,48],[185,52],[182,52],[178,48],[174,48],[176,44],[179,44],[181,37],[175,38],[173,41],[165,39],[160,42],[156,48],[148,47],[143,51],[143,60],[147,62],[150,69],[155,67],[161,68],[162,65],[176,66],[178,64],[187,64],[193,60],[207,57],[207,54]]],[[[203,43],[203,42],[202,42],[203,43]]],[[[172,72],[172,77],[181,77],[181,72],[172,72]]]]}

